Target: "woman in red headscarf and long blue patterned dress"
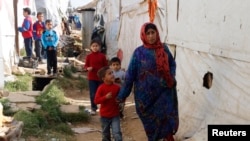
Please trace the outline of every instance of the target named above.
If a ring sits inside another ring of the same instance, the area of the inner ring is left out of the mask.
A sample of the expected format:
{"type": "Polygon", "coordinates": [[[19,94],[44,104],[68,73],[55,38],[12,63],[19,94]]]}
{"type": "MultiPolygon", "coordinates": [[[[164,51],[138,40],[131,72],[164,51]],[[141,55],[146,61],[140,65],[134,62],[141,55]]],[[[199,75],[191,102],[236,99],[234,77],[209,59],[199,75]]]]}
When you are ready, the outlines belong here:
{"type": "Polygon", "coordinates": [[[179,123],[176,63],[155,24],[143,24],[140,36],[143,45],[131,57],[117,101],[124,101],[134,86],[136,112],[148,141],[174,141],[179,123]]]}

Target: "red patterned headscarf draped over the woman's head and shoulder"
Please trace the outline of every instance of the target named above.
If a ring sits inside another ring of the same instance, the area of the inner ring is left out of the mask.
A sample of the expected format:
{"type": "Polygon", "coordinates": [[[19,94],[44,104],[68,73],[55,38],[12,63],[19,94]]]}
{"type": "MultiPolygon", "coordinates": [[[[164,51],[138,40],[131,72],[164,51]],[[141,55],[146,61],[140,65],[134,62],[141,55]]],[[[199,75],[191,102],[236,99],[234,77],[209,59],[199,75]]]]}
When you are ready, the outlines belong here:
{"type": "Polygon", "coordinates": [[[149,44],[147,41],[147,35],[146,35],[146,31],[145,31],[145,28],[148,24],[153,24],[153,23],[147,22],[147,23],[143,24],[141,27],[141,35],[140,36],[141,36],[141,40],[143,42],[143,46],[145,48],[155,50],[157,71],[167,81],[167,86],[173,87],[174,81],[173,81],[173,77],[170,74],[168,55],[164,51],[164,46],[163,46],[163,43],[161,42],[158,29],[155,25],[155,27],[156,27],[156,42],[154,44],[149,44]]]}

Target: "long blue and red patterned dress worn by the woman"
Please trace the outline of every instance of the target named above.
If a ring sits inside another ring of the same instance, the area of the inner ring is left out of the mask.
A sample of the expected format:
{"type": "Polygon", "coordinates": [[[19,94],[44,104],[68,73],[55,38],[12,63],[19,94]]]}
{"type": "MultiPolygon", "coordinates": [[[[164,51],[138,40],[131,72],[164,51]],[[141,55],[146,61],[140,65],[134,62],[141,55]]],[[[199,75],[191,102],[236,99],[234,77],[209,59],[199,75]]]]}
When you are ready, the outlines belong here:
{"type": "MultiPolygon", "coordinates": [[[[166,45],[164,50],[168,55],[170,73],[175,77],[175,60],[166,45]]],[[[134,51],[117,99],[125,100],[132,89],[136,112],[148,141],[175,134],[179,124],[176,87],[168,88],[157,72],[154,49],[140,46],[134,51]]]]}

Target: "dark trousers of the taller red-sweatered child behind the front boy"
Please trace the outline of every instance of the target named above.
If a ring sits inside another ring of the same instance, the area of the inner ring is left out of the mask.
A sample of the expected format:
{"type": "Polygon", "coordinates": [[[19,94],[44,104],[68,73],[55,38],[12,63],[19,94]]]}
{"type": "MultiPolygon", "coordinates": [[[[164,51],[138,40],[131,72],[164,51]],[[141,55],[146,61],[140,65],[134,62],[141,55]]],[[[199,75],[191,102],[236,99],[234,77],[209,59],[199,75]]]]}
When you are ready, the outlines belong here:
{"type": "Polygon", "coordinates": [[[100,84],[101,84],[100,81],[89,80],[89,93],[90,93],[90,103],[91,103],[91,110],[92,111],[96,111],[98,109],[97,105],[94,103],[94,100],[95,100],[96,90],[100,84]]]}

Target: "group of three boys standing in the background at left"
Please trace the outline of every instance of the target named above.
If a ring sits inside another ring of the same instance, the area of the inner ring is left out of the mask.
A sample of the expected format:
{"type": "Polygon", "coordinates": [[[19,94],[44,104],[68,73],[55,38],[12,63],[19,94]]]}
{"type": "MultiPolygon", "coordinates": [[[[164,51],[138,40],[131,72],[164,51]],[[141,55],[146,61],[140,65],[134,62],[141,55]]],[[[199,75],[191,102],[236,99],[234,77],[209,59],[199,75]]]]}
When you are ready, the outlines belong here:
{"type": "Polygon", "coordinates": [[[32,42],[34,40],[35,53],[39,63],[43,63],[43,55],[47,59],[47,74],[51,75],[51,70],[53,69],[53,75],[56,75],[59,36],[53,30],[52,20],[47,19],[43,22],[43,13],[37,13],[37,21],[34,24],[32,23],[30,14],[30,8],[23,9],[23,16],[25,18],[22,26],[18,27],[18,31],[22,33],[24,38],[26,56],[32,60],[32,42]]]}

